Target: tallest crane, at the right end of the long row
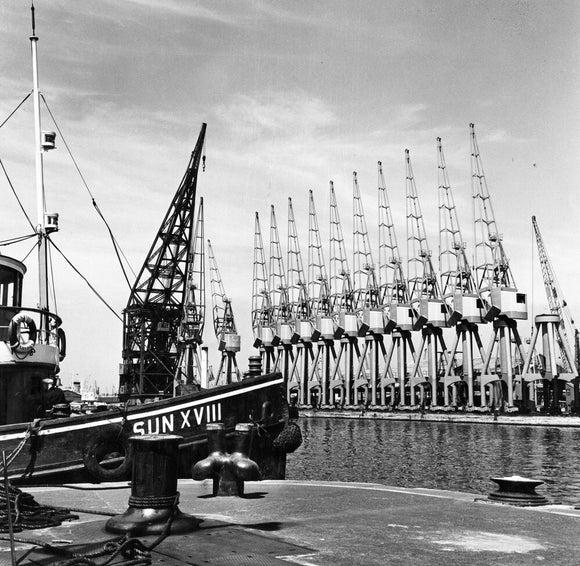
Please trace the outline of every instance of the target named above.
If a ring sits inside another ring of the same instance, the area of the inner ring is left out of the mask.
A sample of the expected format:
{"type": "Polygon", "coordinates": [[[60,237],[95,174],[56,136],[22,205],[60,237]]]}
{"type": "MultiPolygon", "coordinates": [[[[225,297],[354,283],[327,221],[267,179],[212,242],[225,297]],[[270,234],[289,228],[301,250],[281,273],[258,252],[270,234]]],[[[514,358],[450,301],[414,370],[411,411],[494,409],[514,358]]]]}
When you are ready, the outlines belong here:
{"type": "Polygon", "coordinates": [[[528,318],[527,297],[518,291],[503,237],[497,229],[495,215],[479,154],[475,126],[469,125],[471,137],[471,184],[475,230],[475,277],[478,293],[484,301],[484,318],[493,321],[493,335],[484,359],[480,377],[481,405],[486,405],[485,387],[490,404],[503,403],[507,389],[508,409],[514,407],[515,348],[525,359],[522,341],[517,330],[517,320],[528,318]],[[497,346],[497,348],[496,348],[497,346]],[[491,373],[490,363],[497,349],[500,372],[491,373]],[[501,384],[505,385],[501,385],[501,384]]]}

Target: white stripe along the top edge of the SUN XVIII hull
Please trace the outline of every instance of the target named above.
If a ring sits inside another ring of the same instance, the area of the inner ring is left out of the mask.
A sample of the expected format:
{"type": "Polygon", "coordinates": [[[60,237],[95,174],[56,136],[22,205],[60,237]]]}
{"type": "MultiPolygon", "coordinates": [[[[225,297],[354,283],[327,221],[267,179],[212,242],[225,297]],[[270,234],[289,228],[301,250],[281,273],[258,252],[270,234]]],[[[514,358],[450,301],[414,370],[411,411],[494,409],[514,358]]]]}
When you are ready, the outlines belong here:
{"type": "MultiPolygon", "coordinates": [[[[197,401],[191,401],[189,403],[181,403],[179,405],[171,405],[169,407],[166,407],[165,409],[155,409],[152,411],[143,411],[143,412],[135,413],[132,415],[128,415],[127,420],[128,421],[138,421],[138,420],[146,419],[149,417],[154,417],[157,415],[163,415],[166,413],[172,413],[174,411],[180,411],[180,410],[187,409],[190,407],[196,407],[198,405],[205,405],[206,403],[207,404],[215,403],[216,401],[220,401],[221,399],[227,399],[229,397],[235,397],[237,395],[242,395],[243,393],[248,393],[250,391],[257,391],[259,389],[264,389],[265,387],[270,387],[272,385],[282,383],[283,381],[284,381],[284,378],[281,377],[281,378],[273,380],[273,381],[259,383],[257,385],[252,385],[250,387],[246,387],[244,389],[238,389],[235,391],[228,391],[226,393],[222,393],[221,395],[215,395],[213,397],[206,397],[205,399],[199,399],[197,401]]],[[[221,412],[221,409],[220,409],[220,412],[221,412]]],[[[75,417],[71,417],[71,419],[74,419],[74,418],[75,417]]],[[[220,415],[220,418],[221,418],[221,415],[220,415]]],[[[45,428],[45,429],[41,429],[38,434],[40,436],[50,436],[52,434],[61,434],[63,432],[71,432],[73,430],[95,428],[95,427],[103,426],[104,424],[121,423],[122,421],[123,421],[123,417],[118,416],[118,417],[113,417],[110,419],[103,419],[103,420],[98,420],[98,421],[94,421],[94,422],[87,422],[87,423],[82,423],[82,424],[77,424],[77,425],[61,426],[58,428],[45,428]]],[[[2,435],[0,435],[0,442],[2,442],[3,440],[15,440],[15,439],[19,439],[19,438],[21,439],[21,438],[24,438],[25,436],[26,436],[26,431],[15,432],[12,434],[2,434],[2,435]]]]}

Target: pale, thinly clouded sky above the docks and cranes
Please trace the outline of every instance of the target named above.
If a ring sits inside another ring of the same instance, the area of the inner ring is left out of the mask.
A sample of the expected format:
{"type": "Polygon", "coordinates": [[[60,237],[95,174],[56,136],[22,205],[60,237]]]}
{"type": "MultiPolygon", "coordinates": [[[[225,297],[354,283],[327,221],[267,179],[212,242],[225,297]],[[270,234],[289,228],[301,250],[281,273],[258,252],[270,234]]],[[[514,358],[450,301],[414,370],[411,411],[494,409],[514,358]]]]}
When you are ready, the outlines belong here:
{"type": "MultiPolygon", "coordinates": [[[[564,297],[580,317],[577,2],[36,0],[35,7],[41,91],[135,271],[207,122],[207,169],[198,194],[242,336],[242,369],[255,353],[255,212],[267,242],[275,206],[285,246],[292,197],[305,261],[308,190],[328,238],[333,180],[350,245],[357,171],[377,261],[376,164],[383,162],[404,249],[408,148],[429,246],[436,250],[440,136],[472,250],[470,122],[530,314],[547,310],[531,225],[536,215],[564,297]]],[[[32,88],[30,34],[29,3],[3,1],[0,122],[32,88]]],[[[28,100],[0,128],[0,158],[34,218],[32,128],[28,100]]],[[[54,129],[46,113],[43,129],[54,129]]],[[[57,146],[45,156],[47,208],[60,214],[53,240],[120,313],[129,288],[60,137],[57,146]]],[[[5,177],[0,203],[0,240],[30,233],[5,177]]],[[[22,259],[29,249],[27,242],[0,253],[22,259]]],[[[53,263],[57,311],[68,338],[62,380],[96,381],[110,390],[118,381],[122,325],[58,254],[53,263]]],[[[33,262],[29,269],[25,298],[33,304],[33,262]]],[[[519,323],[522,336],[532,321],[519,323]]],[[[216,364],[211,320],[205,335],[216,364]]]]}

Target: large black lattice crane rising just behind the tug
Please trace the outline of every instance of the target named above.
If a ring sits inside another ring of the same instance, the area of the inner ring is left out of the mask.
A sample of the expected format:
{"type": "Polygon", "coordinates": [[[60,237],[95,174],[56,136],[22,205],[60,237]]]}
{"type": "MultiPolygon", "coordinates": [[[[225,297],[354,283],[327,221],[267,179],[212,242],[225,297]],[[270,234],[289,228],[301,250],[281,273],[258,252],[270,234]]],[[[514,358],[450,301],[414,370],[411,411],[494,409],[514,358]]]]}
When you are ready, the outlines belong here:
{"type": "Polygon", "coordinates": [[[120,396],[139,398],[173,393],[179,332],[186,298],[197,175],[202,158],[203,124],[187,171],[173,197],[123,313],[120,396]]]}

